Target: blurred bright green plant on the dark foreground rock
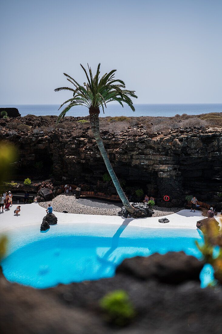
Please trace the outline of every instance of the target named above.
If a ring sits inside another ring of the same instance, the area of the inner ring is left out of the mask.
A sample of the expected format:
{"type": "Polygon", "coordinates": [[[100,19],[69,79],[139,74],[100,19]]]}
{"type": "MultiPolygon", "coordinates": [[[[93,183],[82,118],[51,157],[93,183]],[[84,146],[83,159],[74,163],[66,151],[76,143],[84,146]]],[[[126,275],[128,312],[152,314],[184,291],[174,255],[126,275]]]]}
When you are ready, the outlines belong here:
{"type": "Polygon", "coordinates": [[[106,320],[118,326],[127,325],[135,317],[135,309],[124,290],[107,293],[99,301],[99,305],[106,314],[106,320]]]}

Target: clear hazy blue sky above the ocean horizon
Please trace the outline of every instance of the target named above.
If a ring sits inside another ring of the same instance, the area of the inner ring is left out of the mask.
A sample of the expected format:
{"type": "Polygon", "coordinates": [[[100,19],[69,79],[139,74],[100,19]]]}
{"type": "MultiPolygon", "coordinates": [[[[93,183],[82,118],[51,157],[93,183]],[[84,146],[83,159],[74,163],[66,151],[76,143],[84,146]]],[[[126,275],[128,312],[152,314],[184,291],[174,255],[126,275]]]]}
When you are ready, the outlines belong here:
{"type": "Polygon", "coordinates": [[[1,0],[0,13],[0,104],[60,104],[80,62],[117,69],[136,103],[222,103],[222,0],[1,0]]]}

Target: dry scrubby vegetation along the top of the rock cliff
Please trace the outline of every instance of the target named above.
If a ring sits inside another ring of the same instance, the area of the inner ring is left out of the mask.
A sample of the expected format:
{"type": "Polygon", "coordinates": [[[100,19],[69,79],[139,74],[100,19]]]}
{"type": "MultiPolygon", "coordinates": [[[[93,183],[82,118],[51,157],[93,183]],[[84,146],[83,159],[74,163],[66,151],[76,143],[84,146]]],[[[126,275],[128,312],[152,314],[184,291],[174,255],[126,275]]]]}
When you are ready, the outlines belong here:
{"type": "MultiPolygon", "coordinates": [[[[90,138],[93,134],[90,130],[89,116],[87,117],[65,117],[56,125],[56,116],[35,116],[27,115],[13,121],[7,122],[7,128],[10,130],[19,130],[23,132],[38,133],[43,131],[49,133],[59,130],[61,133],[72,133],[75,136],[81,136],[87,133],[90,138]]],[[[175,115],[174,117],[100,117],[100,130],[109,131],[113,134],[119,134],[121,131],[131,129],[132,133],[137,134],[140,128],[148,133],[161,132],[167,133],[171,129],[177,130],[183,128],[205,129],[208,127],[222,127],[222,113],[210,113],[201,115],[175,115]]]]}

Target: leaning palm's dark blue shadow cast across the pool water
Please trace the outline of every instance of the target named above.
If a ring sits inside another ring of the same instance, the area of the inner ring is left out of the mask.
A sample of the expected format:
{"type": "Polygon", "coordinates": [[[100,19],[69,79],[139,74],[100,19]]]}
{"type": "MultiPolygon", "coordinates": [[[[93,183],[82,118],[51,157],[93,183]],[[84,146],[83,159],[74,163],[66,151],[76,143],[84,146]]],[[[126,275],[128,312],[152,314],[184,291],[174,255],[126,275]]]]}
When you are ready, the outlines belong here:
{"type": "Polygon", "coordinates": [[[97,271],[97,277],[98,279],[102,278],[102,274],[105,272],[107,267],[116,267],[113,261],[109,261],[108,258],[109,256],[117,249],[118,245],[119,245],[119,239],[120,239],[120,235],[123,233],[123,231],[125,230],[125,228],[128,226],[128,224],[134,220],[133,218],[128,218],[126,219],[123,224],[118,228],[118,230],[116,231],[116,233],[114,234],[114,236],[112,237],[112,241],[111,241],[111,247],[108,249],[108,251],[102,256],[99,257],[97,255],[96,259],[98,261],[98,263],[100,264],[100,268],[97,271]]]}

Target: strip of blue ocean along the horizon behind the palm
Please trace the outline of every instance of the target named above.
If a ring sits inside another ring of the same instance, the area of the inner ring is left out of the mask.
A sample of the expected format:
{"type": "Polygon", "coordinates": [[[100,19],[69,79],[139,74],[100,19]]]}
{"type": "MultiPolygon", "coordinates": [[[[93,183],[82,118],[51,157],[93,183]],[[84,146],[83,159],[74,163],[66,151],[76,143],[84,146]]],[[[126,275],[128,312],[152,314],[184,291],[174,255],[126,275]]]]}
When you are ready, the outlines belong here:
{"type": "MultiPolygon", "coordinates": [[[[21,116],[32,114],[36,116],[59,115],[59,105],[0,105],[0,107],[18,108],[21,116]]],[[[222,112],[222,104],[135,104],[136,111],[133,112],[128,106],[124,108],[119,104],[108,104],[103,114],[100,109],[100,117],[103,116],[165,116],[171,117],[176,114],[199,115],[205,113],[222,112]]],[[[73,107],[66,116],[87,116],[86,107],[73,107]]]]}

